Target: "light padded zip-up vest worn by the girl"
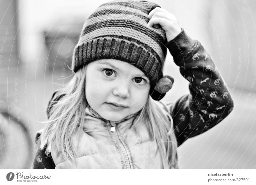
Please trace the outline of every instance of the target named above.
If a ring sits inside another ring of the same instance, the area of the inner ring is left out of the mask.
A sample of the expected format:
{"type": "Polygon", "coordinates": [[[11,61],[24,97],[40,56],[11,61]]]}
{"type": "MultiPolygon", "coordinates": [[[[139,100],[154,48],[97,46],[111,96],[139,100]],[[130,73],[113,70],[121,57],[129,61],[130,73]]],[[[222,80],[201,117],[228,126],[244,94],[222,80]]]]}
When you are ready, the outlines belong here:
{"type": "Polygon", "coordinates": [[[163,169],[157,143],[150,141],[145,123],[136,122],[136,132],[134,115],[118,123],[99,119],[90,107],[85,111],[84,129],[77,128],[74,134],[77,157],[70,164],[51,150],[56,169],[163,169]]]}

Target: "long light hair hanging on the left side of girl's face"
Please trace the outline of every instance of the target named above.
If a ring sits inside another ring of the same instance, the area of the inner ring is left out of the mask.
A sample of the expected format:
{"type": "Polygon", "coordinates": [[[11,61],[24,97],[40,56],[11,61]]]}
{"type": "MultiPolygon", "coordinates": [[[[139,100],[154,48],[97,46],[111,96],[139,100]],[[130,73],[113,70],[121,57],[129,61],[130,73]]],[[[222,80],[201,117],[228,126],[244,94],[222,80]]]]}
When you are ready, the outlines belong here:
{"type": "Polygon", "coordinates": [[[84,66],[78,70],[66,86],[56,91],[54,96],[61,98],[49,103],[52,105],[47,110],[48,120],[40,136],[40,149],[45,147],[47,155],[51,149],[55,149],[65,160],[70,161],[76,157],[72,138],[77,127],[82,128],[85,119],[86,68],[84,66]]]}

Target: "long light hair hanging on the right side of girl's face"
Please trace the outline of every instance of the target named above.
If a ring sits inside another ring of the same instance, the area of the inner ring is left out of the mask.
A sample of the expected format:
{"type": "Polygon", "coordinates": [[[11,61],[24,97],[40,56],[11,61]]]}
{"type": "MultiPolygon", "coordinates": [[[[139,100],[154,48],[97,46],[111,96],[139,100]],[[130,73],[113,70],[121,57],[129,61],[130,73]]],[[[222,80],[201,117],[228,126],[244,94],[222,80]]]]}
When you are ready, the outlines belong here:
{"type": "Polygon", "coordinates": [[[139,119],[144,121],[150,139],[157,143],[164,169],[178,169],[177,140],[172,116],[149,96],[136,120],[139,119]]]}

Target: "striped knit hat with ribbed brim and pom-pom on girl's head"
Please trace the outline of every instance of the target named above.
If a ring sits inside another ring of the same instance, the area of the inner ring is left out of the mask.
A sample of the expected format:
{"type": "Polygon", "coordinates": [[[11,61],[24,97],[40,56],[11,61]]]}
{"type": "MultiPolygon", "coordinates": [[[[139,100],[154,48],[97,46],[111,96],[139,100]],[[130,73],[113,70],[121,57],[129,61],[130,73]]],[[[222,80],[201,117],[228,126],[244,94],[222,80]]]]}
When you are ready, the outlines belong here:
{"type": "Polygon", "coordinates": [[[148,27],[148,14],[156,3],[112,1],[102,4],[84,24],[74,50],[72,70],[99,59],[117,59],[139,68],[150,81],[150,96],[160,100],[172,88],[170,76],[163,76],[167,49],[162,28],[148,27]]]}

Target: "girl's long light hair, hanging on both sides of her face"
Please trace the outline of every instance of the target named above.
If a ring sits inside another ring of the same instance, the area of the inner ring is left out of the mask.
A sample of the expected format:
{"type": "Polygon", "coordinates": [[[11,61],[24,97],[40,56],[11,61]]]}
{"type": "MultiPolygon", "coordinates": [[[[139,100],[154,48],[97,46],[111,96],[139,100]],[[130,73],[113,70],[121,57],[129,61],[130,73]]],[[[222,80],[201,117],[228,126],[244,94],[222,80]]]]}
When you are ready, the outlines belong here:
{"type": "MultiPolygon", "coordinates": [[[[84,110],[88,104],[85,97],[86,68],[87,65],[78,70],[71,81],[55,94],[55,97],[62,97],[52,101],[49,119],[45,121],[46,125],[40,136],[40,149],[45,147],[46,155],[49,155],[51,149],[55,149],[64,160],[76,158],[72,138],[77,127],[83,129],[84,110]]],[[[164,112],[149,96],[134,121],[135,127],[137,120],[145,122],[150,139],[156,141],[164,169],[177,169],[177,142],[171,115],[164,112]]]]}

